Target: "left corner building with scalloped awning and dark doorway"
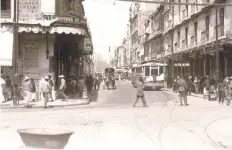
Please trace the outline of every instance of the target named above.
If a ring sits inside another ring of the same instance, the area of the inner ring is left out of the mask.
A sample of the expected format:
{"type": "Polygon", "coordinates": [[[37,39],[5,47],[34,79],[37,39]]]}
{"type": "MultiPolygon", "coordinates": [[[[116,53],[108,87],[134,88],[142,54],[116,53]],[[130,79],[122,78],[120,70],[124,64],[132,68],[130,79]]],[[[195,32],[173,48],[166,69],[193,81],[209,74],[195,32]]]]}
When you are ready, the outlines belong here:
{"type": "MultiPolygon", "coordinates": [[[[38,84],[45,75],[52,75],[58,81],[58,75],[63,74],[68,81],[72,75],[91,73],[89,54],[93,47],[82,0],[16,2],[1,0],[0,38],[9,57],[5,60],[8,63],[4,63],[1,55],[0,65],[11,66],[13,61],[15,69],[8,75],[30,76],[38,84]]],[[[8,70],[3,68],[2,72],[9,73],[8,70]]]]}

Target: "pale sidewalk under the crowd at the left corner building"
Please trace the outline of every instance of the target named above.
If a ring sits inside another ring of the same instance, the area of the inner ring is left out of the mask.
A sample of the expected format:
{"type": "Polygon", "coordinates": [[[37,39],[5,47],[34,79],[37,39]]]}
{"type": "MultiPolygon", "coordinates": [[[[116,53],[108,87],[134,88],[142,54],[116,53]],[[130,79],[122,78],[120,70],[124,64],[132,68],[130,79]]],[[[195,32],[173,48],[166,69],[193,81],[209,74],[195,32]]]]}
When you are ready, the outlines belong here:
{"type": "MultiPolygon", "coordinates": [[[[87,105],[88,101],[82,99],[68,99],[62,101],[61,99],[55,100],[53,102],[48,102],[48,107],[65,107],[65,106],[76,106],[76,105],[87,105]]],[[[8,101],[1,104],[1,109],[12,109],[12,108],[43,108],[44,101],[38,100],[36,102],[29,102],[29,106],[26,107],[26,101],[20,100],[18,106],[13,105],[13,101],[8,101]]]]}

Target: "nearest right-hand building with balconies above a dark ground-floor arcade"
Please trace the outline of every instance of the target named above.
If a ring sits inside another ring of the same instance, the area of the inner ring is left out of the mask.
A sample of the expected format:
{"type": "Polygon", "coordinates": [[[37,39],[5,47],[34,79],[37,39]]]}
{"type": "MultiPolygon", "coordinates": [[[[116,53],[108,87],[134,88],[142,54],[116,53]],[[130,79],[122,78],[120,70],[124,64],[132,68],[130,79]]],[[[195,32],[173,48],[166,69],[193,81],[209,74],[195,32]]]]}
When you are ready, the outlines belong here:
{"type": "MultiPolygon", "coordinates": [[[[230,0],[175,0],[175,2],[232,3],[230,0]]],[[[213,5],[166,5],[164,7],[164,49],[169,63],[169,78],[177,75],[209,75],[216,80],[217,71],[219,78],[232,75],[232,66],[229,65],[232,63],[231,55],[229,55],[232,51],[231,10],[232,8],[226,5],[217,6],[217,10],[213,5]],[[217,45],[216,29],[219,43],[217,45]],[[219,70],[216,69],[217,50],[219,51],[219,70]]]]}

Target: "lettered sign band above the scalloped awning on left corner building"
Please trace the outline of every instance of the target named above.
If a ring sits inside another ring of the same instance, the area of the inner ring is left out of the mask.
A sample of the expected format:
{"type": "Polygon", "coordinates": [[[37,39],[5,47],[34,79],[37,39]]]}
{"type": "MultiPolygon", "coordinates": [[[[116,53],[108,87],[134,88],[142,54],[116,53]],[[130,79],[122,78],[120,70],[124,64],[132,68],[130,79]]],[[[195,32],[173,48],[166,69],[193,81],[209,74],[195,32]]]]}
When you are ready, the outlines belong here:
{"type": "Polygon", "coordinates": [[[87,19],[83,16],[65,16],[65,15],[42,15],[44,20],[57,19],[59,23],[72,23],[87,25],[87,19]]]}

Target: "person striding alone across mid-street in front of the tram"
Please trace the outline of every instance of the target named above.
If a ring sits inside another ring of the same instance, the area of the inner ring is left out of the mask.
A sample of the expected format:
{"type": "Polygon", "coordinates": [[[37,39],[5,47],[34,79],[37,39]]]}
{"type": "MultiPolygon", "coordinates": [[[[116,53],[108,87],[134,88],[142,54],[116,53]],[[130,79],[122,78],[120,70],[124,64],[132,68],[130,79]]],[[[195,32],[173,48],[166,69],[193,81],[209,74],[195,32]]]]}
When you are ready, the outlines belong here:
{"type": "Polygon", "coordinates": [[[145,95],[144,95],[143,88],[144,88],[143,77],[140,77],[140,78],[139,78],[139,81],[138,81],[138,83],[137,83],[136,100],[135,100],[135,102],[134,102],[133,107],[135,107],[135,105],[137,104],[139,98],[141,98],[141,100],[142,100],[142,102],[143,102],[143,106],[144,106],[144,107],[147,106],[147,103],[146,103],[146,101],[145,101],[145,95]]]}

